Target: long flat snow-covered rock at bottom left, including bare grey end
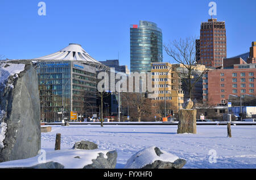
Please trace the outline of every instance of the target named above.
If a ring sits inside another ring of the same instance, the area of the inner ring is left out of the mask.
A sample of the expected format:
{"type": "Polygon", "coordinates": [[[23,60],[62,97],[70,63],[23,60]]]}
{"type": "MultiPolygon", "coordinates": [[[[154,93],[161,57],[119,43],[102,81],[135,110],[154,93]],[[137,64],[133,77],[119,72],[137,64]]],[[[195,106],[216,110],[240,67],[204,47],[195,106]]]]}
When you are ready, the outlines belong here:
{"type": "Polygon", "coordinates": [[[65,149],[42,153],[24,160],[2,162],[0,168],[109,169],[115,168],[116,163],[115,150],[65,149]]]}

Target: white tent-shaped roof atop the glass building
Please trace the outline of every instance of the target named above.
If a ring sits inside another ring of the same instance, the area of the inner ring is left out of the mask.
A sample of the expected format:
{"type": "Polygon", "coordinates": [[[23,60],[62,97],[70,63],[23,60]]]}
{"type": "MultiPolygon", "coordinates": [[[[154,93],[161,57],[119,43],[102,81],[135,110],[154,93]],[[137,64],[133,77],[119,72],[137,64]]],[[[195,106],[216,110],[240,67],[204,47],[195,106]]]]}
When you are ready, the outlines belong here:
{"type": "Polygon", "coordinates": [[[64,49],[51,55],[34,58],[34,60],[69,60],[69,61],[84,61],[84,62],[95,62],[101,64],[82,49],[80,44],[70,43],[64,49]]]}

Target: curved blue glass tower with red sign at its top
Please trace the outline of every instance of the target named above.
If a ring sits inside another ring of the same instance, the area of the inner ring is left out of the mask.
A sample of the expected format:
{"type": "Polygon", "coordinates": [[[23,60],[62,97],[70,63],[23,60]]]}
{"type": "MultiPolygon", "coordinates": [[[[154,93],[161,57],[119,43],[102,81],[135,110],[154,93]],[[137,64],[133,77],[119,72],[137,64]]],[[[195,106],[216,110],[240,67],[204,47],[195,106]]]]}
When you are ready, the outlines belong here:
{"type": "Polygon", "coordinates": [[[140,20],[130,27],[131,72],[150,72],[151,62],[163,61],[162,30],[155,23],[140,20]]]}

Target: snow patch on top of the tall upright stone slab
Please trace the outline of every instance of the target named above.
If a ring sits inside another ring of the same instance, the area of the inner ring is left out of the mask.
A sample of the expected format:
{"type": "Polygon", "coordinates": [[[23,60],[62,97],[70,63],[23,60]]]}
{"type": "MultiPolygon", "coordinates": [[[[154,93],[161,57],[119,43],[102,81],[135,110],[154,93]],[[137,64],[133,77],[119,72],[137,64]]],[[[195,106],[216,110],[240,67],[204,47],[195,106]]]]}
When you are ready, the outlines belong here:
{"type": "MultiPolygon", "coordinates": [[[[0,85],[5,84],[10,76],[18,78],[18,74],[25,68],[25,64],[13,64],[13,63],[0,63],[0,85]]],[[[5,85],[6,86],[6,85],[5,85]]],[[[9,87],[13,88],[13,84],[10,83],[9,87]]]]}

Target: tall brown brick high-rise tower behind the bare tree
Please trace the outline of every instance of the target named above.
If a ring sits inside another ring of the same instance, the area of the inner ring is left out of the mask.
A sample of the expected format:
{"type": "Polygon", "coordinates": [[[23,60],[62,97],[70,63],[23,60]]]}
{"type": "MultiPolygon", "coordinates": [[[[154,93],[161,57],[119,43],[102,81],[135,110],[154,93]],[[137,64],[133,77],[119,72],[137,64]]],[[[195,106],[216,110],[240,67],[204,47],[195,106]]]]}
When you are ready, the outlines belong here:
{"type": "Polygon", "coordinates": [[[197,64],[215,68],[222,66],[222,61],[226,58],[225,22],[208,19],[208,22],[201,23],[200,49],[196,48],[196,51],[200,52],[197,64]]]}

